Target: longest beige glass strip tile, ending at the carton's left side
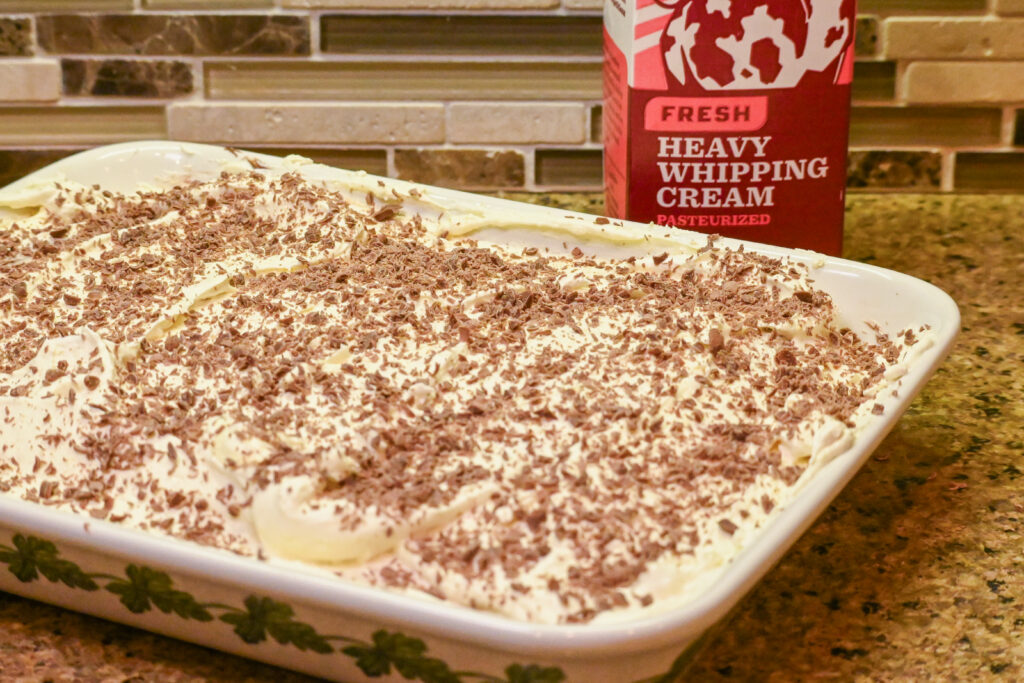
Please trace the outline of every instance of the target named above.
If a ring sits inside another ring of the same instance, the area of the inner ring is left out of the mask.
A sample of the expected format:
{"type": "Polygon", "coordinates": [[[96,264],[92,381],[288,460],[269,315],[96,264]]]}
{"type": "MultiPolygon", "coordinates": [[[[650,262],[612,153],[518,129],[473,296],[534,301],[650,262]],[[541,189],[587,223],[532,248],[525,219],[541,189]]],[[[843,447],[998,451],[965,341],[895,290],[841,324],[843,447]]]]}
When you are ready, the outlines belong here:
{"type": "Polygon", "coordinates": [[[206,88],[215,99],[600,99],[601,65],[213,61],[206,88]]]}

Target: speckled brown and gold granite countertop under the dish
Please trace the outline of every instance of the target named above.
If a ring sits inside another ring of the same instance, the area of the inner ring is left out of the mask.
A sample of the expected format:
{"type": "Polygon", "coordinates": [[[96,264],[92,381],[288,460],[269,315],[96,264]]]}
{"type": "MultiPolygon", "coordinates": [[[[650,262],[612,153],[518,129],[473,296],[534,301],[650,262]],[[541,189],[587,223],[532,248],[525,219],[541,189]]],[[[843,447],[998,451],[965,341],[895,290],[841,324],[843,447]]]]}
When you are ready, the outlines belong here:
{"type": "MultiPolygon", "coordinates": [[[[531,200],[601,209],[595,195],[531,200]]],[[[944,289],[963,334],[873,458],[708,639],[691,678],[1022,680],[1024,196],[853,195],[845,255],[944,289]]],[[[5,593],[0,677],[311,680],[5,593]]]]}

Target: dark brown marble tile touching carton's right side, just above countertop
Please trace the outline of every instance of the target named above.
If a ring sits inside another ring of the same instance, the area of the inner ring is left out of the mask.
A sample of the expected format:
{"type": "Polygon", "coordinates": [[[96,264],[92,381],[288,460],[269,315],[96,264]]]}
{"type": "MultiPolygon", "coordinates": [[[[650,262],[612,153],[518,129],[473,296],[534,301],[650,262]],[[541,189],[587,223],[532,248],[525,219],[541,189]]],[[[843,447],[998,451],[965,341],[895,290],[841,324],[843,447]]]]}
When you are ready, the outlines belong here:
{"type": "Polygon", "coordinates": [[[942,155],[937,152],[851,152],[847,187],[939,189],[942,155]]]}

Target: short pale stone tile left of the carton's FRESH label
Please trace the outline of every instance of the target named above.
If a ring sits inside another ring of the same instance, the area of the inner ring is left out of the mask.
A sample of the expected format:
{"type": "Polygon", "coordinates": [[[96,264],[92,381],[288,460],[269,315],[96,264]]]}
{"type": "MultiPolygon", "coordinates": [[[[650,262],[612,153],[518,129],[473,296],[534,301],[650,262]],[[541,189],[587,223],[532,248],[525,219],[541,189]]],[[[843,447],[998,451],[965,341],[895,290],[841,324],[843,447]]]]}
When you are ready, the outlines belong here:
{"type": "Polygon", "coordinates": [[[453,102],[449,105],[449,141],[502,144],[583,142],[583,104],[531,102],[453,102]]]}

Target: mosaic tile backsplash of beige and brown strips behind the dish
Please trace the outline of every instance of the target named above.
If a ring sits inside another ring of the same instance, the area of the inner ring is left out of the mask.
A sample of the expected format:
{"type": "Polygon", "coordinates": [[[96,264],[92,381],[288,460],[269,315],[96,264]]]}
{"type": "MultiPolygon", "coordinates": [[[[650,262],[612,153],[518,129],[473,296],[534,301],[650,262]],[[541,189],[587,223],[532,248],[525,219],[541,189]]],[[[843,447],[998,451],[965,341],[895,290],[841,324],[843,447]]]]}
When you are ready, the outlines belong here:
{"type": "MultiPolygon", "coordinates": [[[[1024,0],[860,0],[854,189],[1024,191],[1024,0]]],[[[601,184],[598,0],[0,0],[0,185],[170,137],[601,184]]]]}

